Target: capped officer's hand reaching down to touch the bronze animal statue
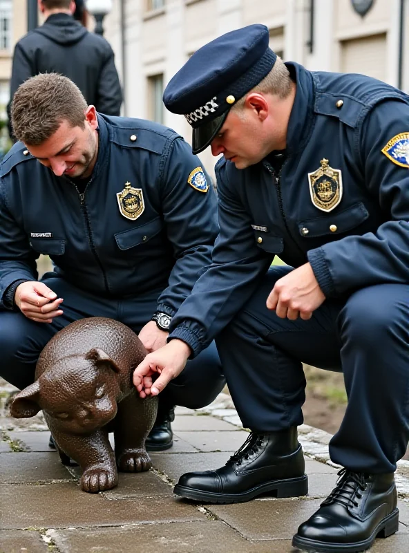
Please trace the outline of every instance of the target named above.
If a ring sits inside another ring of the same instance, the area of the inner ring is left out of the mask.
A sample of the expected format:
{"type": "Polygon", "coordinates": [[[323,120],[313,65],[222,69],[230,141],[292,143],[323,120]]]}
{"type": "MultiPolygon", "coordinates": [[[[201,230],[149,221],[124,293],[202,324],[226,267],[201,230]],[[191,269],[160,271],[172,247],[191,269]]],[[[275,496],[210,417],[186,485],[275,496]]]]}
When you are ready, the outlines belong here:
{"type": "Polygon", "coordinates": [[[178,339],[146,355],[133,373],[133,384],[140,397],[162,392],[173,378],[182,373],[189,355],[189,346],[178,339]]]}

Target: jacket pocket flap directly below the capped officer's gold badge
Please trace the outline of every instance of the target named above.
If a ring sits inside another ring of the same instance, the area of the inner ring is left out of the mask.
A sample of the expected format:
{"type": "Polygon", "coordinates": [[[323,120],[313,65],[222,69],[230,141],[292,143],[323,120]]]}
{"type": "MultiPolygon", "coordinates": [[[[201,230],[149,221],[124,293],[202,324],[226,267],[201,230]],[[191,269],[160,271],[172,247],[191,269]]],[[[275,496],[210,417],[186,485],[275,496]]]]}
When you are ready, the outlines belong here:
{"type": "Polygon", "coordinates": [[[343,234],[361,225],[368,217],[368,209],[359,202],[336,214],[328,213],[322,217],[300,221],[298,231],[305,238],[325,236],[325,234],[343,234]]]}

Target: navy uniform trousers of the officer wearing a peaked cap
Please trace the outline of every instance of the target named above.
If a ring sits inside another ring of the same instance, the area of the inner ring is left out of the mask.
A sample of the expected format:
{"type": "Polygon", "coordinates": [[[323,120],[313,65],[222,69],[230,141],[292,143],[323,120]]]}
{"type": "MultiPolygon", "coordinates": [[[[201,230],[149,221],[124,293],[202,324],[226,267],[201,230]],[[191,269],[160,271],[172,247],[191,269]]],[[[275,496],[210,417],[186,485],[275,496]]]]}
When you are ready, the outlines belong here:
{"type": "Polygon", "coordinates": [[[267,432],[302,424],[301,362],[342,371],[348,406],[331,459],[354,471],[394,471],[409,440],[409,285],[369,286],[326,300],[308,321],[290,321],[265,305],[289,270],[271,268],[216,339],[243,425],[267,432]]]}

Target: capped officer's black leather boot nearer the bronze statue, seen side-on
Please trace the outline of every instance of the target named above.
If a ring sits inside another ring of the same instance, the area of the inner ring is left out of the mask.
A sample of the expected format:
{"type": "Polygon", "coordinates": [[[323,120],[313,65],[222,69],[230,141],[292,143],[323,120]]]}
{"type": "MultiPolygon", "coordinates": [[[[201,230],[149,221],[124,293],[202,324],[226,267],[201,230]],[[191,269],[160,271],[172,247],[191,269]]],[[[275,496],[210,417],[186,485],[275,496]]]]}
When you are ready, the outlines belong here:
{"type": "Polygon", "coordinates": [[[262,494],[305,496],[303,450],[297,429],[251,432],[226,465],[216,471],[183,474],[173,492],[203,503],[240,503],[262,494]]]}

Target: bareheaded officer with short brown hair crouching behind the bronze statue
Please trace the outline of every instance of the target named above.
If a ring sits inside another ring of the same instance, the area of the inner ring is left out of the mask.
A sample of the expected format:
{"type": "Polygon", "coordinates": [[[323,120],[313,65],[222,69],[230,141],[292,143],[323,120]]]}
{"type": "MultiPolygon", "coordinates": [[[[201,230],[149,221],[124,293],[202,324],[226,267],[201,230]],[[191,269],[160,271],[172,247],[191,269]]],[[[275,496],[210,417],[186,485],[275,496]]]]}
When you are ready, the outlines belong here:
{"type": "MultiPolygon", "coordinates": [[[[211,262],[216,198],[186,142],[164,126],[100,115],[66,77],[38,75],[12,104],[21,142],[0,166],[0,375],[28,386],[48,340],[82,317],[111,317],[154,351],[211,262]],[[55,270],[37,281],[35,260],[55,270]]],[[[216,346],[159,402],[146,446],[172,445],[176,404],[224,385],[216,346]]]]}

